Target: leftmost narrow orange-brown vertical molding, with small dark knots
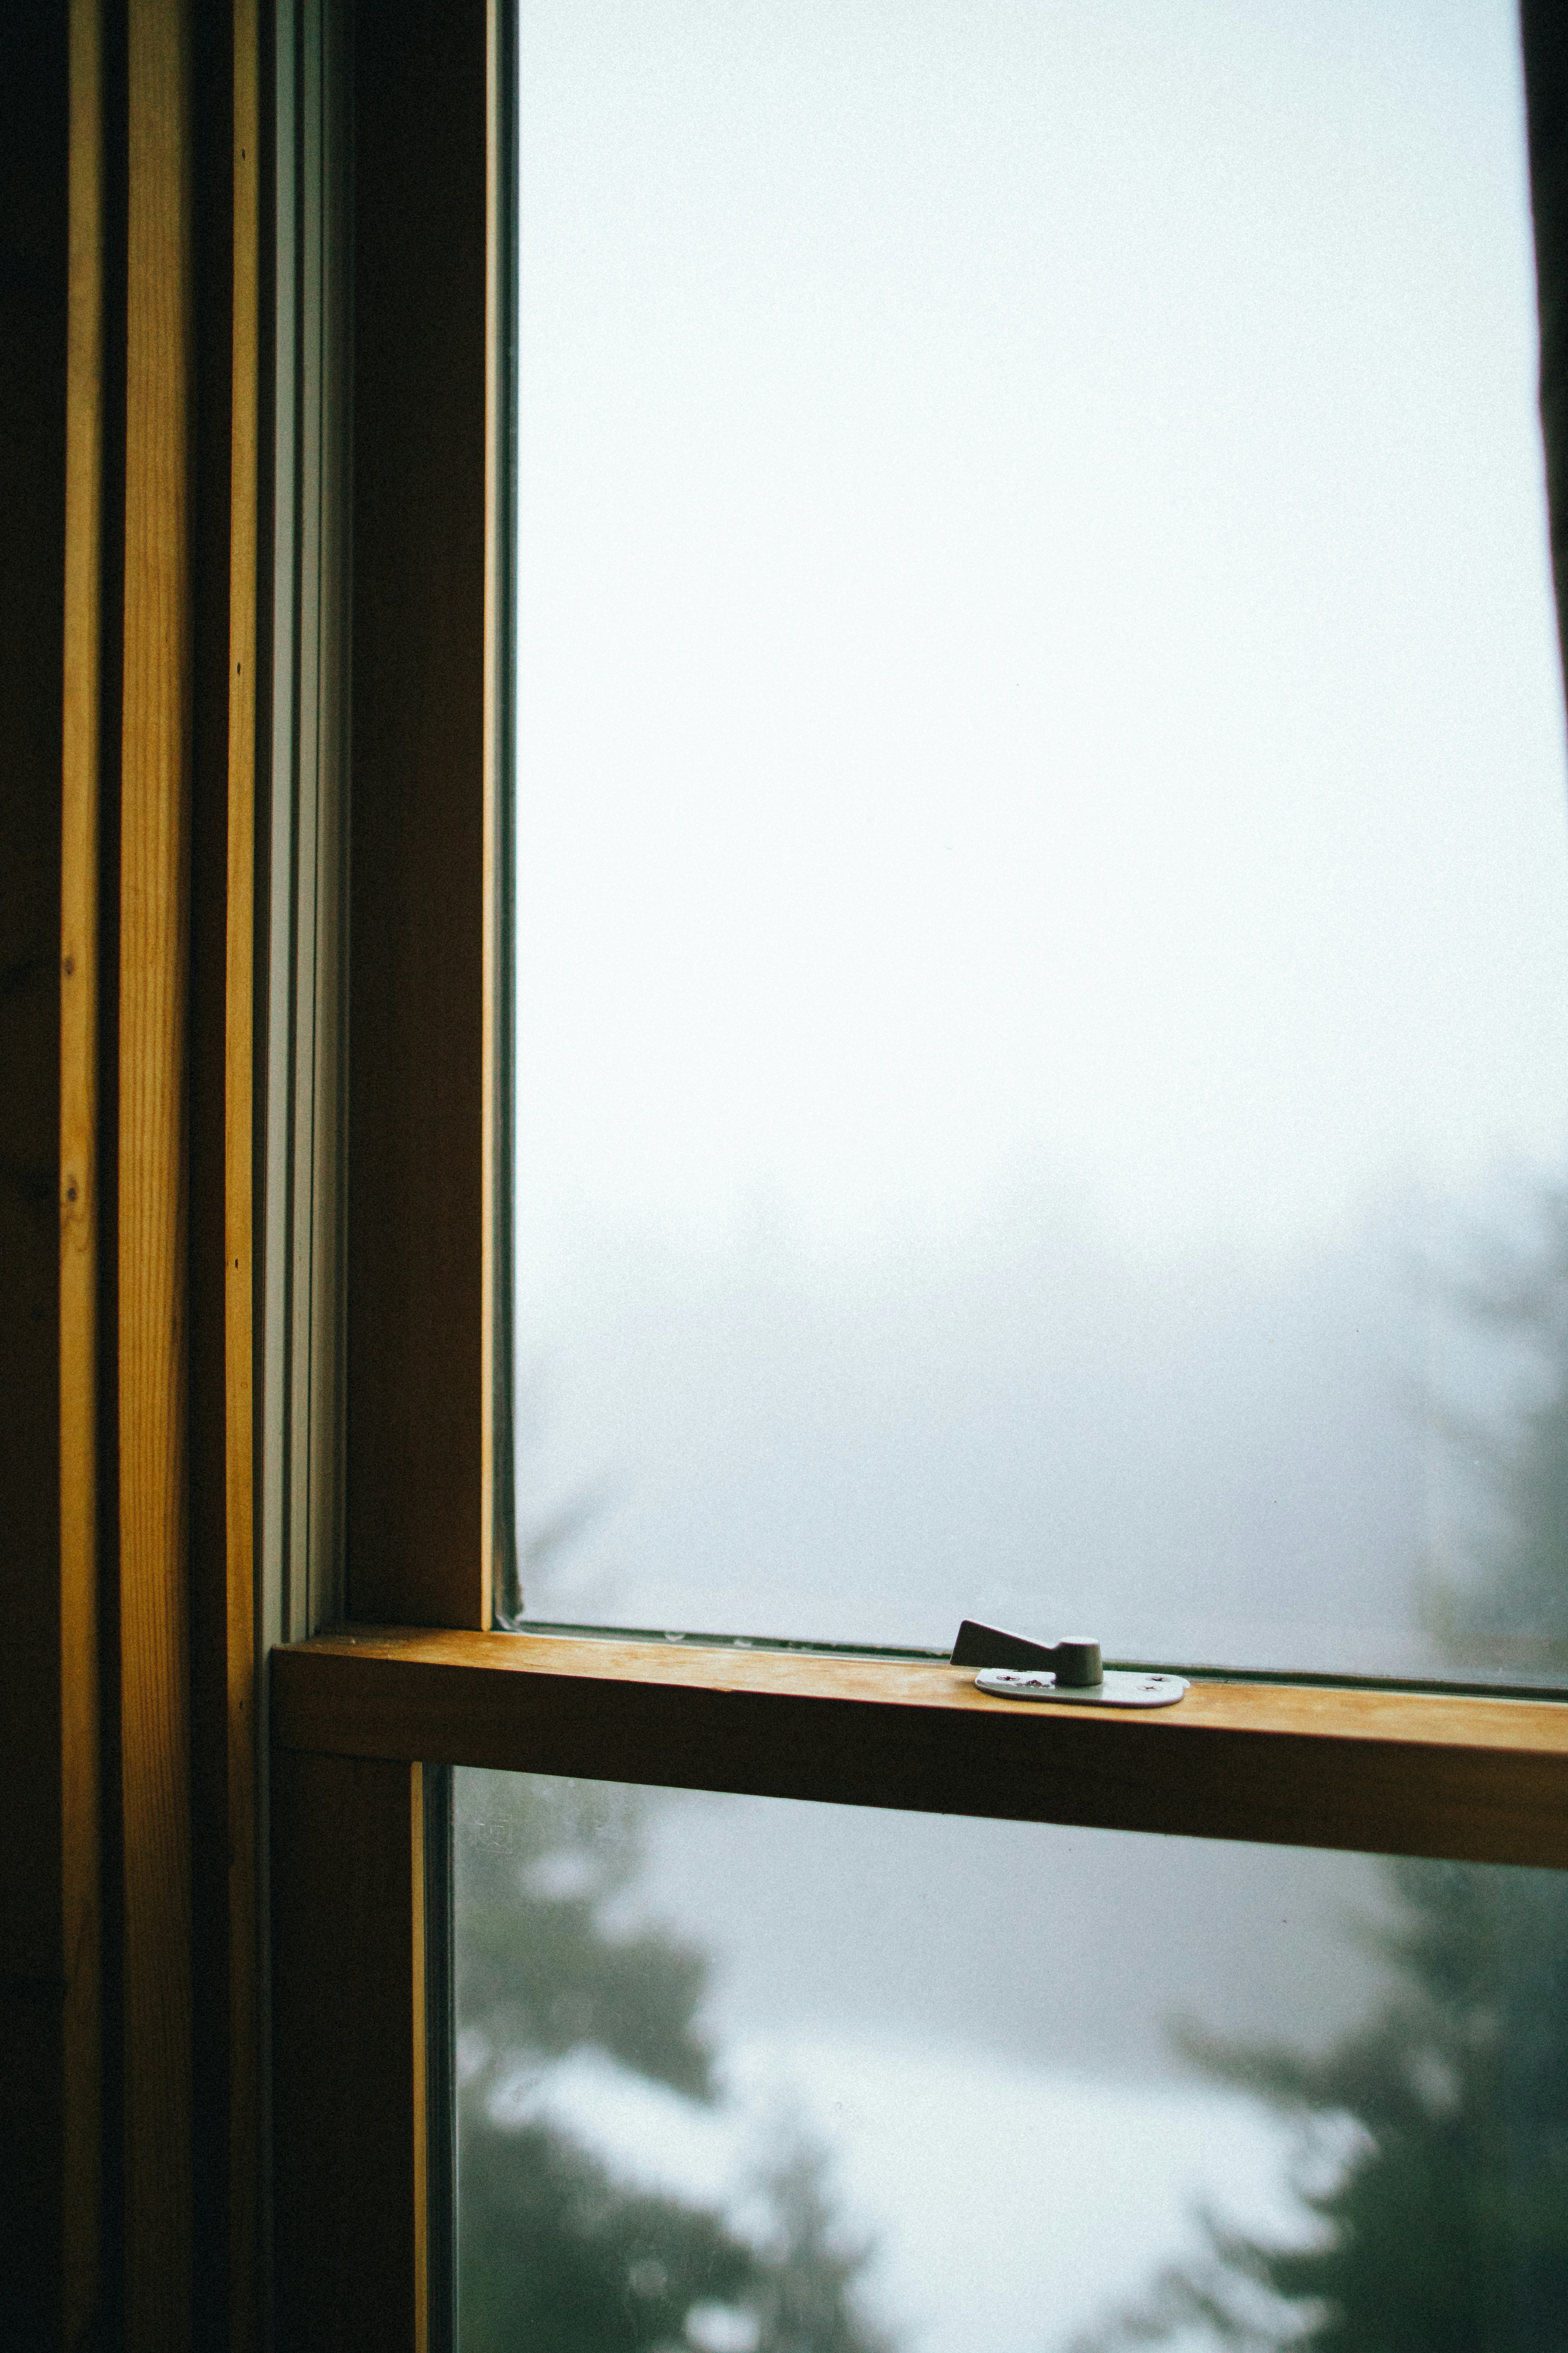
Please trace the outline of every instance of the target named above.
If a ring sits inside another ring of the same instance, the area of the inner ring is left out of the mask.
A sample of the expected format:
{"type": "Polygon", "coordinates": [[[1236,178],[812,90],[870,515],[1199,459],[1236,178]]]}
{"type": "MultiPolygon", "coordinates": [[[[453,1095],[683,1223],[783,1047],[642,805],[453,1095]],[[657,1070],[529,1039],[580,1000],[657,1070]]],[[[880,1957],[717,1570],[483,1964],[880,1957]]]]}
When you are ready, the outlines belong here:
{"type": "Polygon", "coordinates": [[[71,0],[66,664],[61,760],[61,1944],[63,2320],[101,2294],[99,1861],[99,725],[103,558],[103,21],[71,0]]]}

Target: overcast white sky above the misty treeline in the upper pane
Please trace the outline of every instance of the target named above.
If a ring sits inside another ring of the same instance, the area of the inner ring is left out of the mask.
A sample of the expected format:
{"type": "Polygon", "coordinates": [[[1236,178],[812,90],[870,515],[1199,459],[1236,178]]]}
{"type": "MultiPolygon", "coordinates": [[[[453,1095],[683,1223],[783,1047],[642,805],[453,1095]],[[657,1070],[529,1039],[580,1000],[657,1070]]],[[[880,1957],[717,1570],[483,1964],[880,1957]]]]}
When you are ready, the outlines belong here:
{"type": "Polygon", "coordinates": [[[1552,1158],[1507,0],[529,0],[524,1200],[1552,1158]]]}

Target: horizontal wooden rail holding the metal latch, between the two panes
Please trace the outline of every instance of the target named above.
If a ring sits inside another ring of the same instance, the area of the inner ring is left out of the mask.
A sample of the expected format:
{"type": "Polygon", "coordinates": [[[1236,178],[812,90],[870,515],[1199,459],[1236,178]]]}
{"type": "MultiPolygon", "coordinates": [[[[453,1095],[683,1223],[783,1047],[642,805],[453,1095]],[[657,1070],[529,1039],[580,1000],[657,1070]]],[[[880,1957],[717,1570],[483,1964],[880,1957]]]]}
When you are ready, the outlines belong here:
{"type": "Polygon", "coordinates": [[[1140,1715],[969,1668],[355,1626],[273,1659],[273,1741],[907,1812],[1568,1866],[1568,1706],[1201,1682],[1140,1715]]]}

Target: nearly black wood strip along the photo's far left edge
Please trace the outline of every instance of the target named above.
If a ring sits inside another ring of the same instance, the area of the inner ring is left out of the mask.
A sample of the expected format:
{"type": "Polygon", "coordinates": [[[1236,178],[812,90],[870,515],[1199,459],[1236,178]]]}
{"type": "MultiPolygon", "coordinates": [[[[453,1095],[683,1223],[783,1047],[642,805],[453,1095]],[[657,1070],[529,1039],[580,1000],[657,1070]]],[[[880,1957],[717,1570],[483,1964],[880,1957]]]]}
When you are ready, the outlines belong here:
{"type": "Polygon", "coordinates": [[[0,2344],[61,2339],[59,1489],[68,19],[0,9],[0,2344]]]}

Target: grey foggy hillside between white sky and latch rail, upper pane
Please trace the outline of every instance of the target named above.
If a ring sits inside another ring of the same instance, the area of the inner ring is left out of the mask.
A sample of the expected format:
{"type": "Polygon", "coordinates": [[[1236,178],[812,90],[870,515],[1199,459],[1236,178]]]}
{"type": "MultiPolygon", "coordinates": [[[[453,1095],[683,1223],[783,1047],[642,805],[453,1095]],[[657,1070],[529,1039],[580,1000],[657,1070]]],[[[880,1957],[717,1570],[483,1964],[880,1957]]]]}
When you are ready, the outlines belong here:
{"type": "Polygon", "coordinates": [[[522,1485],[585,1511],[536,1614],[940,1647],[990,1612],[1117,1657],[1434,1666],[1422,1579],[1472,1520],[1436,1402],[1507,1353],[1429,1304],[1458,1275],[1408,1221],[1262,1278],[1128,1268],[1023,1193],[940,1254],[762,1231],[571,1273],[522,1485]]]}

